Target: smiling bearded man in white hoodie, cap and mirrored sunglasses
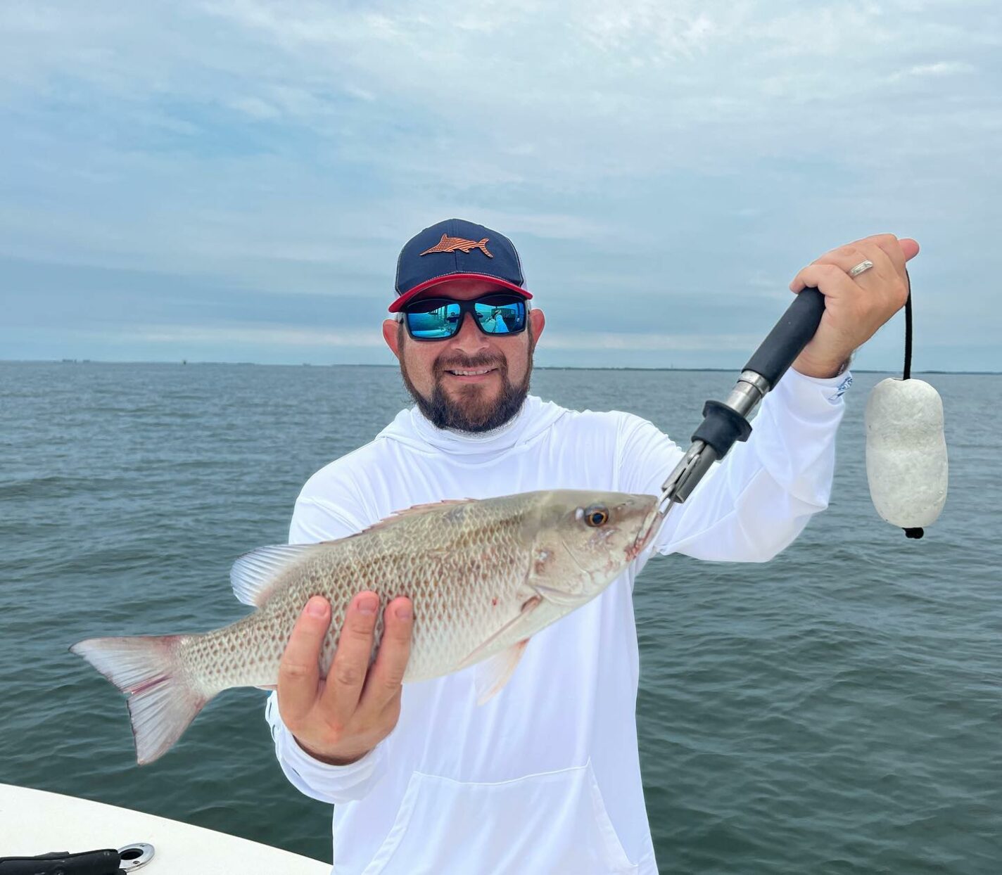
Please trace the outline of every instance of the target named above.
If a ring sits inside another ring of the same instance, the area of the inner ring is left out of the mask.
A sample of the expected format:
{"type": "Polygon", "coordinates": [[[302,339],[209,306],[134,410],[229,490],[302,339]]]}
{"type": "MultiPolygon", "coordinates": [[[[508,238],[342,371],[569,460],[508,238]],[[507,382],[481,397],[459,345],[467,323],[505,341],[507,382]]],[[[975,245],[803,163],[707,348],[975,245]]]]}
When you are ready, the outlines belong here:
{"type": "MultiPolygon", "coordinates": [[[[917,252],[914,240],[868,237],[795,277],[794,291],[826,296],[815,338],[765,399],[749,441],[672,510],[653,549],[765,562],[827,506],[848,358],[904,304],[917,252]],[[850,276],[854,267],[862,272],[850,276]]],[[[628,413],[527,395],[545,319],[510,240],[459,219],[426,228],[401,251],[396,291],[383,336],[416,407],[311,478],[290,542],[342,538],[445,499],[659,492],[686,448],[628,413]]],[[[656,873],[634,715],[632,587],[649,555],[536,635],[480,707],[475,668],[402,690],[414,623],[404,598],[381,606],[359,593],[319,679],[331,611],[310,600],[268,719],[290,780],[336,806],[336,873],[656,873]]]]}

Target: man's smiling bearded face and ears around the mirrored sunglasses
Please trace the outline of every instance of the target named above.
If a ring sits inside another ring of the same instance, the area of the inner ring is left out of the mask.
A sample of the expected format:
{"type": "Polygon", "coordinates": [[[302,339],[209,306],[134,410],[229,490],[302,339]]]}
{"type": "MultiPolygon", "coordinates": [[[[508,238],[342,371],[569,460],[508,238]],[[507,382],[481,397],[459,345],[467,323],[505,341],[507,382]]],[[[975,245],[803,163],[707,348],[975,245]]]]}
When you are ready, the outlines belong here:
{"type": "MultiPolygon", "coordinates": [[[[451,279],[416,299],[470,300],[507,291],[482,279],[451,279]]],[[[455,336],[415,340],[396,319],[383,322],[383,337],[400,360],[404,384],[421,411],[440,428],[487,431],[512,418],[529,391],[532,352],[542,333],[543,311],[529,310],[526,330],[485,334],[470,313],[455,336]],[[468,371],[476,371],[469,373],[468,371]]]]}

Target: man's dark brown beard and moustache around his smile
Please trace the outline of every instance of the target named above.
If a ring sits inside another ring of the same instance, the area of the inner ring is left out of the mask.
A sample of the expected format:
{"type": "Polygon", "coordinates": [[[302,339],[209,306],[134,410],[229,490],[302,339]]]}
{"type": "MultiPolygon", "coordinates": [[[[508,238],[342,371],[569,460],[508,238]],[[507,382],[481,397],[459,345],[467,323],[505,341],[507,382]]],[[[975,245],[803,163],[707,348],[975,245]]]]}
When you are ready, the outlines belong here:
{"type": "MultiPolygon", "coordinates": [[[[403,325],[401,325],[403,329],[403,325]]],[[[403,330],[402,330],[403,333],[403,330]]],[[[403,341],[403,337],[400,338],[403,341]]],[[[529,393],[529,379],[532,376],[532,332],[529,329],[529,351],[527,353],[525,377],[516,385],[508,376],[508,361],[497,355],[440,355],[432,366],[435,387],[431,397],[425,397],[411,381],[400,358],[400,375],[411,393],[418,409],[439,428],[453,428],[457,431],[490,431],[513,419],[522,409],[525,396],[529,393]],[[461,385],[455,396],[446,392],[442,385],[445,373],[450,369],[475,370],[478,367],[496,367],[501,377],[501,391],[490,398],[482,385],[461,385]]]]}

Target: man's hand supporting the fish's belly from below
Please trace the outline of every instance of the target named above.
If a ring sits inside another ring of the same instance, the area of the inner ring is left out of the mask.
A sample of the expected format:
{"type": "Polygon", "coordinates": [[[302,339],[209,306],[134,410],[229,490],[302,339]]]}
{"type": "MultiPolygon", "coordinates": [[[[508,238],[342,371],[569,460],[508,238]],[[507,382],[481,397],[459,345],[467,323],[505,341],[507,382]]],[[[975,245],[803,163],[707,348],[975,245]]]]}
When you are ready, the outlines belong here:
{"type": "Polygon", "coordinates": [[[359,593],[348,607],[327,678],[320,653],[331,606],[314,596],[293,629],[279,667],[279,713],[310,756],[335,766],[364,757],[400,717],[401,683],[411,653],[410,599],[394,599],[383,615],[383,639],[369,665],[379,597],[359,593]]]}

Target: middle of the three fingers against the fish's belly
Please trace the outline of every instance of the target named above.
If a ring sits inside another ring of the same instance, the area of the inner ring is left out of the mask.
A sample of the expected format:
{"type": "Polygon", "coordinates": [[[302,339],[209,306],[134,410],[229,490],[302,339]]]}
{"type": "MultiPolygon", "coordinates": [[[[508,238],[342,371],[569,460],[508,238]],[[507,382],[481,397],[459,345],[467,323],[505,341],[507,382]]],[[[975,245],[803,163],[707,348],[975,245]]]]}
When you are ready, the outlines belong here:
{"type": "Polygon", "coordinates": [[[322,708],[332,726],[345,726],[359,704],[369,671],[379,596],[359,593],[348,606],[338,650],[327,674],[322,708]]]}

